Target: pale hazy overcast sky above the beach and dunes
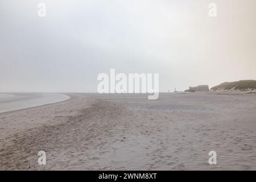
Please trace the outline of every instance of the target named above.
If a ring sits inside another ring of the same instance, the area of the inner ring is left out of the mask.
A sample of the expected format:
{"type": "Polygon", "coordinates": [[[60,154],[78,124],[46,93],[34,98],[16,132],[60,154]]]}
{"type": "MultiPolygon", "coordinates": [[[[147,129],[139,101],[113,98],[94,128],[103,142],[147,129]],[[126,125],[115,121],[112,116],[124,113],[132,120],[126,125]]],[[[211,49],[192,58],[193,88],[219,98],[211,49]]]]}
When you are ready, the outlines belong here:
{"type": "Polygon", "coordinates": [[[159,73],[161,92],[255,80],[255,9],[255,0],[0,0],[0,92],[97,92],[110,68],[159,73]]]}

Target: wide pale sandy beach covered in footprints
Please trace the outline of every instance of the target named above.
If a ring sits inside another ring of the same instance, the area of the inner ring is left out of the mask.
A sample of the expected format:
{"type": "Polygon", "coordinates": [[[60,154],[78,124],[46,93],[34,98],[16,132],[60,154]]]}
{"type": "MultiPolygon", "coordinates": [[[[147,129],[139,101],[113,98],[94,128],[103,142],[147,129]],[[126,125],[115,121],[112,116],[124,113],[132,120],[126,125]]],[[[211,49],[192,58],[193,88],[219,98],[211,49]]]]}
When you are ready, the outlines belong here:
{"type": "Polygon", "coordinates": [[[0,169],[256,169],[255,94],[68,96],[0,114],[0,169]]]}

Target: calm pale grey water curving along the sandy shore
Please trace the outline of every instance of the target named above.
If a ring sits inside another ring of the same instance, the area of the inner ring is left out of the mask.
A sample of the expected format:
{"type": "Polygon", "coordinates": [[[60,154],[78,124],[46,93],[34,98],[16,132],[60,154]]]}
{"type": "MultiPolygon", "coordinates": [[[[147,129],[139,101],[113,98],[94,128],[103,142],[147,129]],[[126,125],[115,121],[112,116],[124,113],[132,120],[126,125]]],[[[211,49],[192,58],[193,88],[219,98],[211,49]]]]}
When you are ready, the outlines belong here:
{"type": "Polygon", "coordinates": [[[59,93],[0,93],[0,113],[65,101],[69,98],[59,93]]]}

